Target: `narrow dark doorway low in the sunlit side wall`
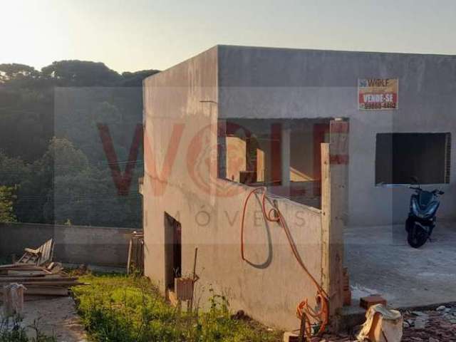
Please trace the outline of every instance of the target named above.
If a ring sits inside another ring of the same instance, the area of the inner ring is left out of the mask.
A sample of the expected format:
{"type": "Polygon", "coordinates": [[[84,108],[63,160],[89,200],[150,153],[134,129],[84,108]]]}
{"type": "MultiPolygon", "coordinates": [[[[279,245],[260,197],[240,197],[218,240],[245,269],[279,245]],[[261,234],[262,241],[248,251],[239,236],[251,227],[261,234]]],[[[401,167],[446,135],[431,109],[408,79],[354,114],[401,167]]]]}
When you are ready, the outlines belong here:
{"type": "Polygon", "coordinates": [[[165,281],[174,289],[174,279],[182,276],[182,227],[165,212],[165,281]]]}

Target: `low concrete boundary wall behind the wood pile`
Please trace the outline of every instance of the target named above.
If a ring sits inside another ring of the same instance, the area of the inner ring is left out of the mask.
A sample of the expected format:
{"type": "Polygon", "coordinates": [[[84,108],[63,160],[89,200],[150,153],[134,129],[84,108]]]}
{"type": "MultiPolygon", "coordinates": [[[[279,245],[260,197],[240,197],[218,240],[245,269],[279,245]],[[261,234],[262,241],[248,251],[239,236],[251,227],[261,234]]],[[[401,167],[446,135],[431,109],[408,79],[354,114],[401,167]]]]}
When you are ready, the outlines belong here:
{"type": "Polygon", "coordinates": [[[0,255],[24,254],[55,239],[54,261],[68,264],[125,266],[134,229],[53,224],[0,224],[0,255]]]}

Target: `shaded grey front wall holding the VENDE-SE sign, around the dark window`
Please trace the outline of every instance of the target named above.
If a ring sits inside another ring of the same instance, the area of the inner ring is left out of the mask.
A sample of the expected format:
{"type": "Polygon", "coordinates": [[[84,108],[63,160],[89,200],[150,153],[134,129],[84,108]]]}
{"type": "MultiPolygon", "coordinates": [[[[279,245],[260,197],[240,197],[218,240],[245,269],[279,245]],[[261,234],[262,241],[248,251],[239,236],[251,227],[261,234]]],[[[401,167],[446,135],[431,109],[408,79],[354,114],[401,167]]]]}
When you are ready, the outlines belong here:
{"type": "MultiPolygon", "coordinates": [[[[456,211],[456,57],[219,46],[220,118],[349,118],[351,225],[401,223],[410,190],[375,186],[375,135],[452,133],[450,184],[438,217],[456,211]],[[399,78],[399,109],[361,111],[358,78],[399,78]]],[[[433,189],[427,185],[425,188],[433,189]]]]}

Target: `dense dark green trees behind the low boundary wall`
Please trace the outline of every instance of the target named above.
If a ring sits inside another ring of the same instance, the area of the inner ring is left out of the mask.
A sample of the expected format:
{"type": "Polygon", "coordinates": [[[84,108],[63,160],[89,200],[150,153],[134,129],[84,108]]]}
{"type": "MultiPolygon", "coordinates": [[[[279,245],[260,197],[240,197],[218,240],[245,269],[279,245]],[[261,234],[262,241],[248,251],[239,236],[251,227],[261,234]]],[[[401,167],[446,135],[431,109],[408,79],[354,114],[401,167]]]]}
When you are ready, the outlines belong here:
{"type": "Polygon", "coordinates": [[[157,72],[0,64],[0,221],[139,227],[142,152],[119,196],[98,126],[108,127],[123,170],[142,123],[142,80],[157,72]]]}

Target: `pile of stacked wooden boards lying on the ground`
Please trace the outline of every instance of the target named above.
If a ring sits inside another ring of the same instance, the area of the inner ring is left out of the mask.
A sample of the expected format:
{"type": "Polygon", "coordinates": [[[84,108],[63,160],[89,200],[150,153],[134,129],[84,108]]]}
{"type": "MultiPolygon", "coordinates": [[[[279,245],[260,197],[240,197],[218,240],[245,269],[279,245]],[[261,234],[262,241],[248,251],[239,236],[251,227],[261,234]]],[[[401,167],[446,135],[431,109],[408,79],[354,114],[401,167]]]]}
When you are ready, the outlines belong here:
{"type": "MultiPolygon", "coordinates": [[[[30,264],[0,266],[0,289],[9,284],[22,284],[26,287],[25,299],[68,296],[71,286],[82,285],[75,276],[68,276],[61,264],[51,263],[47,267],[30,264]]],[[[3,296],[0,292],[0,299],[3,296]]]]}

